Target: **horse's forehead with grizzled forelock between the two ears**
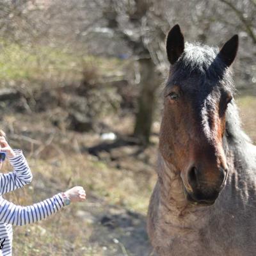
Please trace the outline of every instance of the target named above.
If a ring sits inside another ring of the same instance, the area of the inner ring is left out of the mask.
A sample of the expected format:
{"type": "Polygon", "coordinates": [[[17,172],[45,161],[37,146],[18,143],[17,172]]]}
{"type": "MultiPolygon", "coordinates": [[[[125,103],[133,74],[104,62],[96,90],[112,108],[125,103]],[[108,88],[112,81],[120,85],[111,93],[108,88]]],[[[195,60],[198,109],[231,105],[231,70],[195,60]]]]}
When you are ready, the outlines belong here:
{"type": "Polygon", "coordinates": [[[219,90],[227,75],[217,53],[214,47],[186,43],[184,54],[170,68],[170,84],[177,84],[184,92],[192,94],[219,90]]]}

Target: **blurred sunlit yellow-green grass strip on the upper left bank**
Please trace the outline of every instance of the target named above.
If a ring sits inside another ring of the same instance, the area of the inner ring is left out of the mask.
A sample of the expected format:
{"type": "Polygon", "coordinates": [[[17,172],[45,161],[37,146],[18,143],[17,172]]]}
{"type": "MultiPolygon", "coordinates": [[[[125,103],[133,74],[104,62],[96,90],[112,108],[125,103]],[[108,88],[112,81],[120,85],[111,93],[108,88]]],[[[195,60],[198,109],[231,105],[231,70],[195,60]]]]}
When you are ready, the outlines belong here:
{"type": "Polygon", "coordinates": [[[124,61],[101,58],[85,52],[74,52],[42,45],[19,45],[0,38],[0,79],[42,80],[81,79],[85,67],[97,69],[99,74],[115,72],[124,61]]]}

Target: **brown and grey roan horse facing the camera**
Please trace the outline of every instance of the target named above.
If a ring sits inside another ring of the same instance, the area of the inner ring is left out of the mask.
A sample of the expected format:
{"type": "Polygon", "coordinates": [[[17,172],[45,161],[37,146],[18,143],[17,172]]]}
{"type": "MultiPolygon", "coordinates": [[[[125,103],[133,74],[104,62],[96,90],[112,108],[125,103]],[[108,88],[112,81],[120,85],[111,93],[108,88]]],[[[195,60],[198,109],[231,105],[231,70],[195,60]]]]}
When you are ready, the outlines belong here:
{"type": "Polygon", "coordinates": [[[147,231],[161,256],[256,255],[256,147],[241,129],[230,65],[239,38],[221,49],[166,38],[157,182],[147,231]]]}

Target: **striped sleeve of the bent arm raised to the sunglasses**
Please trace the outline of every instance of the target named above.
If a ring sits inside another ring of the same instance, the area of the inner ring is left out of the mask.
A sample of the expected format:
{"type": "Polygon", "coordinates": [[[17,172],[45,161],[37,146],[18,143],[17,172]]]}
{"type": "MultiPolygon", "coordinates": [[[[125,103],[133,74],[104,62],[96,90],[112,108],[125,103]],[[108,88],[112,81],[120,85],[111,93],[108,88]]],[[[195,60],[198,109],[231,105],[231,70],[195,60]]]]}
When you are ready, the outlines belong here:
{"type": "Polygon", "coordinates": [[[31,182],[33,175],[22,150],[14,149],[15,157],[10,158],[13,172],[0,174],[0,193],[3,195],[31,182]]]}

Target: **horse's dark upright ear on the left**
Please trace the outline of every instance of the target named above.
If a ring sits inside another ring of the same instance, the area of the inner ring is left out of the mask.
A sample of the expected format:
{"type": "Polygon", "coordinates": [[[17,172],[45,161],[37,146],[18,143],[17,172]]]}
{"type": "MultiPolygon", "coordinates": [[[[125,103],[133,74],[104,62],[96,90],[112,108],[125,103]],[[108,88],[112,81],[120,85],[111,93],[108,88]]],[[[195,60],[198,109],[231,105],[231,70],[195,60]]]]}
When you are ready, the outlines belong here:
{"type": "Polygon", "coordinates": [[[184,51],[184,36],[180,31],[179,24],[176,24],[168,33],[166,39],[166,52],[168,60],[174,64],[184,51]]]}

